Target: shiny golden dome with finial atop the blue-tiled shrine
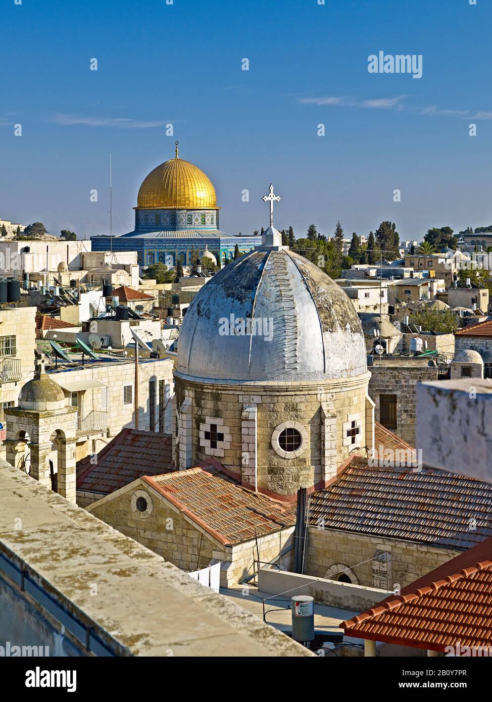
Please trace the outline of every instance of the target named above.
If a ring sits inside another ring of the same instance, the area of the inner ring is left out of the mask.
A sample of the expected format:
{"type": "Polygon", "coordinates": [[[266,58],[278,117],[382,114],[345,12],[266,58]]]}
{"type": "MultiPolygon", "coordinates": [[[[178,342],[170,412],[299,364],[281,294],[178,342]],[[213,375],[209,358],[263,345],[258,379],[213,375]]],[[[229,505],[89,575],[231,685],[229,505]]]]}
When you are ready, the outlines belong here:
{"type": "Polygon", "coordinates": [[[157,166],[140,185],[137,206],[143,208],[216,208],[215,188],[200,168],[178,157],[157,166]]]}

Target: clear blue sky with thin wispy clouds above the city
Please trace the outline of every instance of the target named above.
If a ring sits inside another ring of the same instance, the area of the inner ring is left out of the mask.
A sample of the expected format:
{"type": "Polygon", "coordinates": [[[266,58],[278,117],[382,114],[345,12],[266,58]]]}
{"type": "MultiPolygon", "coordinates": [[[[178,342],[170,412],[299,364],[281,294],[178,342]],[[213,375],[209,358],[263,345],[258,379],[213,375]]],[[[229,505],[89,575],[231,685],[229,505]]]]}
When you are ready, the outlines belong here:
{"type": "Polygon", "coordinates": [[[402,239],[491,224],[491,2],[317,3],[3,0],[0,218],[109,232],[112,152],[114,233],[128,232],[178,139],[226,232],[267,226],[270,181],[275,225],[297,237],[338,219],[347,236],[390,219],[402,239]],[[422,78],[368,73],[379,51],[423,55],[422,78]]]}

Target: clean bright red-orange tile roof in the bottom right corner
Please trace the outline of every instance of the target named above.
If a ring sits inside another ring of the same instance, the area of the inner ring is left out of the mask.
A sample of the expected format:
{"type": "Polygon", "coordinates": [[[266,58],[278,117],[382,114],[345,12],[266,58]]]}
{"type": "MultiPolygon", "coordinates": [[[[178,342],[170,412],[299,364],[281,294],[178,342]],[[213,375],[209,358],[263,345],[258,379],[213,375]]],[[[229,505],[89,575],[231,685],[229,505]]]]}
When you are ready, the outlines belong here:
{"type": "Polygon", "coordinates": [[[492,538],[340,623],[345,635],[432,651],[492,647],[492,538]]]}

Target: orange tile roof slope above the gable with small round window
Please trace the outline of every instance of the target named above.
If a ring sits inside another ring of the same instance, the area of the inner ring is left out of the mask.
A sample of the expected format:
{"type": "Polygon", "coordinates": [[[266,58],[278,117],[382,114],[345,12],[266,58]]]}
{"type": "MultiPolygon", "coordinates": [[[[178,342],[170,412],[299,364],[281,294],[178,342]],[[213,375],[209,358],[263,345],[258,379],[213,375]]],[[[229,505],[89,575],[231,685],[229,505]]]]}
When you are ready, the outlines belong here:
{"type": "Polygon", "coordinates": [[[215,468],[189,468],[142,479],[224,545],[295,524],[295,515],[284,505],[241,487],[215,468]]]}

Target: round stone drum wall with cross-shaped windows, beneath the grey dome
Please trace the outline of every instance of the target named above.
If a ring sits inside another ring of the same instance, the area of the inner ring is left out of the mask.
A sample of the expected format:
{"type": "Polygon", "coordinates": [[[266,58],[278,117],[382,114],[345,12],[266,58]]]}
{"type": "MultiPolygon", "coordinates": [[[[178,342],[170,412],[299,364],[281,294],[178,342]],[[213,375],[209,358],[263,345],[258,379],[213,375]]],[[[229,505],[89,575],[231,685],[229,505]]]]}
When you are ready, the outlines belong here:
{"type": "Polygon", "coordinates": [[[214,456],[241,479],[242,416],[246,409],[251,411],[256,406],[258,489],[291,496],[299,487],[312,486],[328,479],[354,449],[365,453],[367,381],[368,374],[324,383],[215,385],[185,380],[175,373],[176,406],[180,420],[185,421],[185,413],[192,416],[190,436],[180,434],[180,442],[190,442],[187,443],[188,448],[191,445],[191,463],[186,467],[214,456]],[[191,407],[187,404],[190,400],[191,407]],[[333,446],[328,447],[331,451],[329,463],[326,452],[322,455],[325,428],[322,404],[336,418],[334,440],[331,442],[333,446]],[[358,429],[354,443],[346,441],[347,425],[352,420],[358,429]],[[292,458],[286,458],[274,450],[272,435],[277,429],[283,430],[284,425],[294,423],[302,426],[301,433],[305,439],[302,440],[301,451],[295,452],[292,458]],[[207,445],[208,439],[205,437],[211,425],[217,425],[222,435],[222,441],[215,448],[207,445]]]}

